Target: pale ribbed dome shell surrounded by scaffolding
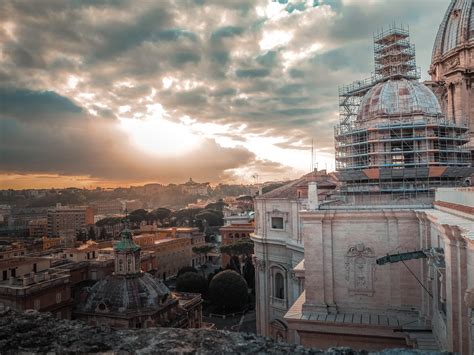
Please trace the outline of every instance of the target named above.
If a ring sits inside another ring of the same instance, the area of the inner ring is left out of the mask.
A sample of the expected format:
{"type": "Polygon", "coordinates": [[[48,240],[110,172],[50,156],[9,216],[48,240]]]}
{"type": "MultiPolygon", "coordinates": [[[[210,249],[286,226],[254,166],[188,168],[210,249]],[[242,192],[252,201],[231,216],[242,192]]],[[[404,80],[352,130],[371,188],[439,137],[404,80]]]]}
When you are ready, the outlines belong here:
{"type": "Polygon", "coordinates": [[[393,79],[376,84],[362,99],[357,118],[370,120],[384,115],[441,115],[434,93],[416,80],[393,79]]]}

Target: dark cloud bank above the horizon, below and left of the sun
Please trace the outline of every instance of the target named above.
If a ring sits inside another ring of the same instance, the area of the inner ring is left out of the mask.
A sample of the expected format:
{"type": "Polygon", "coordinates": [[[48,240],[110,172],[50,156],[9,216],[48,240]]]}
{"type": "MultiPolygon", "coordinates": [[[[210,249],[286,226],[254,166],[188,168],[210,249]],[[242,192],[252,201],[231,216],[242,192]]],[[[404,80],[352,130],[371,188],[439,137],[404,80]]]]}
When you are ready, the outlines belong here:
{"type": "MultiPolygon", "coordinates": [[[[0,97],[11,99],[2,107],[4,115],[0,120],[0,173],[59,173],[159,181],[182,180],[189,174],[181,168],[180,159],[152,157],[138,151],[117,122],[90,117],[54,92],[15,90],[0,97]],[[27,109],[21,107],[25,102],[31,105],[27,109]],[[71,113],[76,119],[65,120],[71,113]],[[34,120],[30,120],[32,115],[34,120]],[[58,118],[54,126],[48,122],[49,117],[58,118]]],[[[228,177],[226,170],[252,161],[254,155],[245,149],[222,148],[208,139],[189,153],[187,159],[186,166],[196,171],[193,174],[196,178],[216,181],[228,177]]]]}

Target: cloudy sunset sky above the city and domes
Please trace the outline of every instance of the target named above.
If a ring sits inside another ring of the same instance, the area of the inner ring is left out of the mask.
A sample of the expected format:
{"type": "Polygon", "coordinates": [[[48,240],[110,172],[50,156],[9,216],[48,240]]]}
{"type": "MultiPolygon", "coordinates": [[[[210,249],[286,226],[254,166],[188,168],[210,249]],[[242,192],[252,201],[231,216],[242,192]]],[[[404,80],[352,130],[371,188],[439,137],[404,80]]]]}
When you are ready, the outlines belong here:
{"type": "Polygon", "coordinates": [[[334,170],[338,87],[448,0],[0,2],[0,189],[252,183],[334,170]]]}

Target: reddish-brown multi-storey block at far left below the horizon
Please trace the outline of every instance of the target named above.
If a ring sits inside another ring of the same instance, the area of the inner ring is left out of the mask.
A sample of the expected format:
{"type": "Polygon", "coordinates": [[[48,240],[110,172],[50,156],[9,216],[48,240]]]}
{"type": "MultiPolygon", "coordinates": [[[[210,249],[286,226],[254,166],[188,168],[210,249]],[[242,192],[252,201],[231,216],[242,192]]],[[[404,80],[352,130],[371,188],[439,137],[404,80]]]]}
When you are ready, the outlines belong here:
{"type": "Polygon", "coordinates": [[[91,207],[70,207],[58,204],[48,210],[48,236],[59,237],[61,232],[85,230],[94,224],[94,212],[91,207]]]}

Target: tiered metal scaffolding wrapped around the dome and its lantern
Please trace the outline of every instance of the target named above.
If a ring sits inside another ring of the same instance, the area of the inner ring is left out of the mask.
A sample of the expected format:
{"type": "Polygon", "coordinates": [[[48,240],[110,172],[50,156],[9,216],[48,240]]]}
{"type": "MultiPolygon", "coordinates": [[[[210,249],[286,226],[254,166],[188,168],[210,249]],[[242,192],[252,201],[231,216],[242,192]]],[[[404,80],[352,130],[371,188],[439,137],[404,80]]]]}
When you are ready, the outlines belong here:
{"type": "Polygon", "coordinates": [[[334,136],[341,192],[416,199],[433,195],[436,187],[462,186],[473,172],[468,127],[429,109],[438,103],[418,83],[407,28],[393,25],[373,39],[373,75],[339,88],[334,136]],[[383,89],[388,95],[382,97],[383,89]]]}

